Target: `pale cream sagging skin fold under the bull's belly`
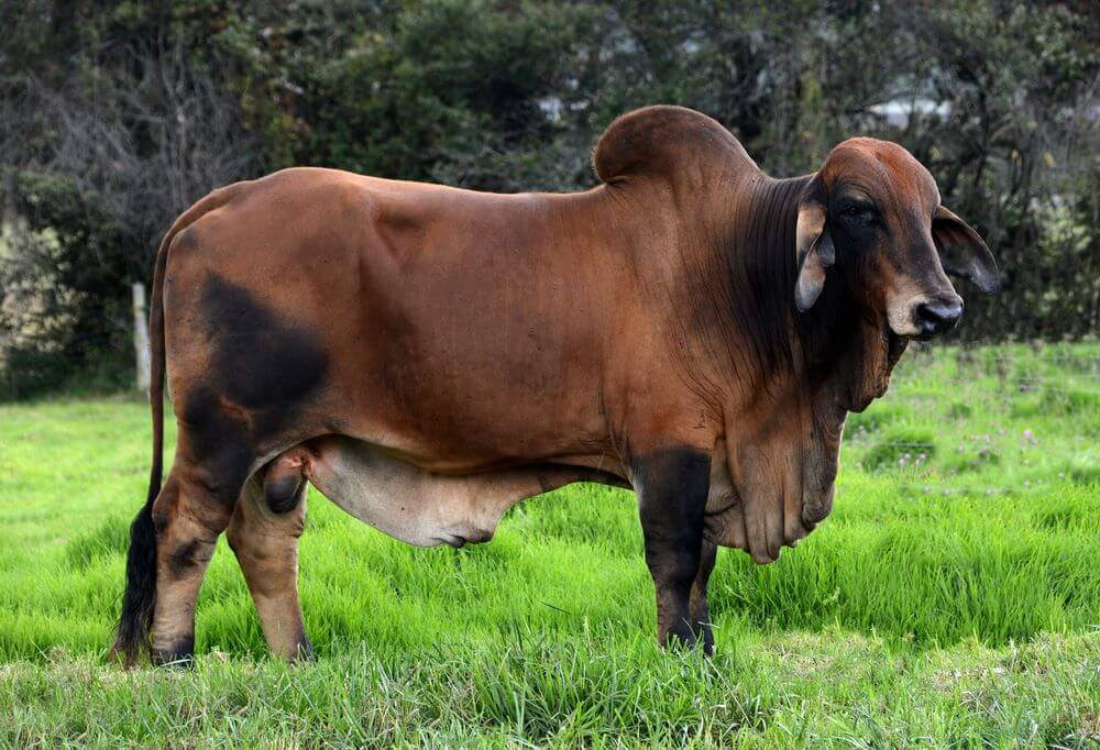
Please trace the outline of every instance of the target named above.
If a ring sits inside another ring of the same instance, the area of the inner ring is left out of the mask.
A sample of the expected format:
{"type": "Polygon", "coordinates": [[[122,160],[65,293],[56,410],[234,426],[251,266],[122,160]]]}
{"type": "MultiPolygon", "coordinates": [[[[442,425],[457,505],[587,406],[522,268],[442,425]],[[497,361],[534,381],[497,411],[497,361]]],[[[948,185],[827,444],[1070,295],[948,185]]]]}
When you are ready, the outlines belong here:
{"type": "Polygon", "coordinates": [[[572,482],[607,482],[586,468],[544,465],[449,476],[387,454],[372,443],[327,437],[284,454],[346,512],[418,547],[483,542],[517,503],[572,482]]]}

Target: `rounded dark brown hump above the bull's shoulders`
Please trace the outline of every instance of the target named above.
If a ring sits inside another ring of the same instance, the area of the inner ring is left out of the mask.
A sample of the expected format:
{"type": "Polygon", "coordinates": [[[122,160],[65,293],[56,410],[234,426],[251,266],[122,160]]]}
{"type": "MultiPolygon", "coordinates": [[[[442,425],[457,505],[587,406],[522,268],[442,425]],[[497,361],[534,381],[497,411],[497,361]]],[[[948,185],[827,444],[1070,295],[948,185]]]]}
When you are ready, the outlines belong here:
{"type": "Polygon", "coordinates": [[[758,172],[740,142],[721,123],[685,107],[646,107],[607,126],[592,153],[604,183],[632,175],[673,178],[715,167],[758,172]]]}

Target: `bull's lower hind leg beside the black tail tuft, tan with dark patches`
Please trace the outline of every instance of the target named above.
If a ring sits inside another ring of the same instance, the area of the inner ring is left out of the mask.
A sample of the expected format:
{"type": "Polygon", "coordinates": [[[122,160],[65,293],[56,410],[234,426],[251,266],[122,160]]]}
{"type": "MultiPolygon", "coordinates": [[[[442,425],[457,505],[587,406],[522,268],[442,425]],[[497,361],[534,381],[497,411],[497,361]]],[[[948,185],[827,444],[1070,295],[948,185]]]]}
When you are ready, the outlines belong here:
{"type": "Polygon", "coordinates": [[[156,604],[153,661],[189,661],[195,654],[195,604],[215,544],[233,512],[232,499],[177,463],[153,504],[156,530],[156,604]]]}

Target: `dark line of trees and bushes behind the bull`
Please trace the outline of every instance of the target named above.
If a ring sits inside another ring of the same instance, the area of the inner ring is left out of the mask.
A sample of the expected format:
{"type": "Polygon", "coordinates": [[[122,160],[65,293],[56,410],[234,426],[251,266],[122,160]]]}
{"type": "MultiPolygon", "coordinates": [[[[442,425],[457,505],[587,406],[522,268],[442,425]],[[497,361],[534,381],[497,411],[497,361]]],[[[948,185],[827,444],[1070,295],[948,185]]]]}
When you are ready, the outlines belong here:
{"type": "Polygon", "coordinates": [[[0,397],[129,374],[132,280],[208,190],[289,165],[581,189],[671,102],[771,174],[895,140],[987,238],[964,333],[1100,323],[1092,2],[300,0],[0,4],[0,397]],[[7,389],[4,383],[8,383],[7,389]]]}

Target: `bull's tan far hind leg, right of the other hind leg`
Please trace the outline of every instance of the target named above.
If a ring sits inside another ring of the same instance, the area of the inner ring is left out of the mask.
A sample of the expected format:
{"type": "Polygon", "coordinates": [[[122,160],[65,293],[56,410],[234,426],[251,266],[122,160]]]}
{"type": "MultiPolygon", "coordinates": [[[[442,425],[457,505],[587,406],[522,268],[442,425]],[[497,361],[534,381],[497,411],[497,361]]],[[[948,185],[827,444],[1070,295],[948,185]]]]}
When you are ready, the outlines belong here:
{"type": "Polygon", "coordinates": [[[267,646],[293,660],[312,654],[298,603],[298,538],[306,522],[306,479],[277,460],[244,486],[226,534],[256,604],[267,646]]]}

